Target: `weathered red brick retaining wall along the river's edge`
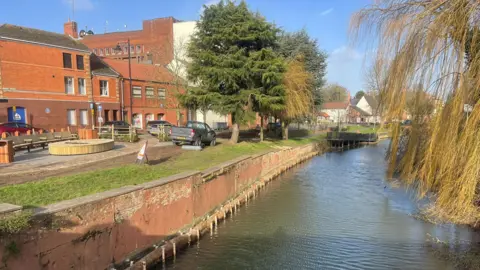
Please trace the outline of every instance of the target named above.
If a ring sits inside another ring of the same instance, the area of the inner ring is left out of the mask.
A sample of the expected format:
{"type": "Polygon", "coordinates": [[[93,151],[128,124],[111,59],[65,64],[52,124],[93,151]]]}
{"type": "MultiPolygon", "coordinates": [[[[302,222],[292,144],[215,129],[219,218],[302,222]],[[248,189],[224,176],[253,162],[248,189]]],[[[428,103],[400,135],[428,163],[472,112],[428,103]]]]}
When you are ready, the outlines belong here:
{"type": "MultiPolygon", "coordinates": [[[[208,223],[227,204],[232,210],[232,200],[246,190],[318,151],[318,145],[309,144],[244,156],[203,172],[186,172],[36,209],[28,231],[1,235],[0,269],[118,266],[140,256],[139,251],[162,245],[162,240],[208,223]]],[[[0,218],[8,218],[19,210],[0,204],[2,211],[0,218]]]]}

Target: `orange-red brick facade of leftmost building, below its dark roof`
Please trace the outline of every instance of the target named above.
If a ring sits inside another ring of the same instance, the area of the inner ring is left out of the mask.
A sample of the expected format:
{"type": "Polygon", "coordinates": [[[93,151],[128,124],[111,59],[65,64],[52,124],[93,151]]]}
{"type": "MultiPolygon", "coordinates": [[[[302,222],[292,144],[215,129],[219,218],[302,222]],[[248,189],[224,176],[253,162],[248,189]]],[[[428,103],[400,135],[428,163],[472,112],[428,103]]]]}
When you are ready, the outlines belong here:
{"type": "MultiPolygon", "coordinates": [[[[120,80],[92,76],[90,54],[87,47],[76,50],[0,38],[0,99],[8,100],[0,103],[0,123],[9,121],[15,107],[22,112],[20,121],[34,127],[91,126],[92,103],[101,103],[112,118],[113,113],[119,118],[120,80]],[[64,67],[64,54],[71,67],[64,67]],[[71,83],[68,90],[66,80],[71,83]],[[100,93],[99,80],[108,81],[108,96],[100,93]]],[[[95,114],[96,122],[99,113],[95,114]]]]}

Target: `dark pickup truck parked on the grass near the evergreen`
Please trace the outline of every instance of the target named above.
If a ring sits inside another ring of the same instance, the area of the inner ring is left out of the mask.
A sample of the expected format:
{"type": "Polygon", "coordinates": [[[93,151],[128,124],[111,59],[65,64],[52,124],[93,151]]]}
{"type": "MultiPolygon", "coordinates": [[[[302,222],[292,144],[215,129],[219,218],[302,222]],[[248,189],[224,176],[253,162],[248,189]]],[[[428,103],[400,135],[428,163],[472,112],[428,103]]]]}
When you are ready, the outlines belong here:
{"type": "Polygon", "coordinates": [[[170,138],[173,144],[191,144],[202,146],[202,144],[217,144],[217,134],[207,124],[196,121],[189,121],[185,127],[172,126],[170,138]]]}

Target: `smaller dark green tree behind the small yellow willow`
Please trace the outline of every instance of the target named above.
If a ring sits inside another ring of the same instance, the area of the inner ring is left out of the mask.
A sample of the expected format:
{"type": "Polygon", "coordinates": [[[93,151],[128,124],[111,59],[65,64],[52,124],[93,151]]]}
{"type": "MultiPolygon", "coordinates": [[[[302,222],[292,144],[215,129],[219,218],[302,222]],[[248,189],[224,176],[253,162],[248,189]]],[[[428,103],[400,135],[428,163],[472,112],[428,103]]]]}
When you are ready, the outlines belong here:
{"type": "Polygon", "coordinates": [[[292,61],[300,55],[303,56],[305,70],[313,76],[309,88],[314,105],[320,106],[324,101],[321,89],[325,85],[327,54],[320,49],[318,41],[311,38],[305,29],[291,33],[282,32],[279,36],[278,51],[288,61],[292,61]]]}

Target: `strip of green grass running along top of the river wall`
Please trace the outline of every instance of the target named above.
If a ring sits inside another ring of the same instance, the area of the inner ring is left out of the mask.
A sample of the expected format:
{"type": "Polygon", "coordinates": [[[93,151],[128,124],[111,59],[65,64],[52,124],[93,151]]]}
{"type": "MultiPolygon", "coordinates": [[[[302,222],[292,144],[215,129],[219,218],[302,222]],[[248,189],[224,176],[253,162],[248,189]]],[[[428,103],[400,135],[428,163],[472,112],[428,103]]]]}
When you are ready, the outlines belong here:
{"type": "Polygon", "coordinates": [[[242,155],[258,154],[279,146],[299,146],[318,142],[323,137],[322,134],[288,141],[223,144],[207,147],[203,151],[184,152],[174,159],[155,166],[129,165],[6,186],[0,188],[0,203],[31,207],[44,206],[126,185],[137,185],[184,171],[204,170],[242,155]]]}

